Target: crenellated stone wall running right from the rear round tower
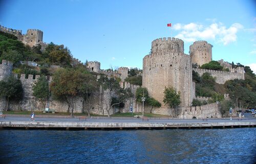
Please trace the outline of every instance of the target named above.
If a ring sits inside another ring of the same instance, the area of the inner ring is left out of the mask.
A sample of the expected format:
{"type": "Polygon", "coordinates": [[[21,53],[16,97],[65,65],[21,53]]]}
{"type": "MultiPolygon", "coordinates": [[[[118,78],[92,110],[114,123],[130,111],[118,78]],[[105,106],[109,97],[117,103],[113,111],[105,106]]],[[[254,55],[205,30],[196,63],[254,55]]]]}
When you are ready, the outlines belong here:
{"type": "Polygon", "coordinates": [[[225,72],[225,71],[215,71],[210,69],[200,69],[193,68],[200,76],[204,73],[209,73],[212,77],[216,78],[216,82],[219,84],[224,84],[228,80],[242,79],[244,80],[244,73],[242,73],[242,68],[238,68],[238,71],[235,72],[225,72]]]}

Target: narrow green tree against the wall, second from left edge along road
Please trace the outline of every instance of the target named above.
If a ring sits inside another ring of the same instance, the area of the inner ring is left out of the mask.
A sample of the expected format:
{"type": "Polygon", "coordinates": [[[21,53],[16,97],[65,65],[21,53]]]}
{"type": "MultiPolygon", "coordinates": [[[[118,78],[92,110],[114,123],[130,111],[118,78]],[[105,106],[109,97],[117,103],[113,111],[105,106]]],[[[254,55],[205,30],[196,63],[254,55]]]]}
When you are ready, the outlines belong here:
{"type": "MultiPolygon", "coordinates": [[[[38,99],[42,104],[49,98],[49,83],[45,76],[41,76],[33,84],[33,96],[38,99]]],[[[45,106],[45,105],[42,105],[45,106]]]]}

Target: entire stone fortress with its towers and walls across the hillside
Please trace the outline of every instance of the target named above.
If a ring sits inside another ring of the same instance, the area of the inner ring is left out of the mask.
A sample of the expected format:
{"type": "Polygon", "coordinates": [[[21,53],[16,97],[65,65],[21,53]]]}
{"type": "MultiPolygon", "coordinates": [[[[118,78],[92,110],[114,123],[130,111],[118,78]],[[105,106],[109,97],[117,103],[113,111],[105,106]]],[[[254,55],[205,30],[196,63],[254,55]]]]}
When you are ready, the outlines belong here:
{"type": "MultiPolygon", "coordinates": [[[[27,34],[22,34],[20,30],[12,30],[0,26],[0,31],[14,34],[18,37],[18,40],[23,43],[34,46],[37,44],[44,45],[45,48],[47,43],[42,42],[42,31],[40,30],[28,30],[27,34]]],[[[208,98],[196,97],[195,82],[192,81],[192,71],[199,73],[201,76],[203,73],[209,73],[211,76],[216,78],[216,82],[224,84],[227,80],[243,79],[244,80],[244,68],[237,67],[232,68],[231,64],[220,60],[220,64],[225,68],[229,68],[229,72],[214,71],[208,69],[193,68],[192,64],[197,63],[203,65],[208,63],[212,59],[212,45],[206,41],[196,41],[189,47],[189,55],[184,54],[184,42],[178,38],[159,38],[152,41],[151,54],[146,55],[143,58],[143,82],[142,86],[146,87],[151,97],[158,100],[162,106],[160,108],[153,108],[151,106],[145,106],[145,112],[152,112],[157,114],[172,115],[173,110],[169,109],[168,106],[164,105],[164,89],[165,87],[172,86],[180,92],[181,104],[179,106],[179,118],[191,119],[194,116],[196,118],[219,118],[221,114],[219,112],[219,105],[216,103],[192,107],[191,103],[193,99],[208,98]]],[[[75,64],[81,63],[78,59],[73,59],[75,64]]],[[[100,69],[100,62],[89,61],[87,67],[90,71],[105,74],[108,77],[120,78],[120,86],[124,88],[131,88],[133,92],[133,98],[127,100],[123,108],[113,108],[111,114],[115,112],[129,112],[130,105],[133,104],[134,112],[141,112],[142,105],[136,102],[135,93],[139,87],[127,82],[124,79],[128,77],[129,69],[127,67],[119,67],[118,71],[103,70],[100,69]]],[[[0,64],[0,80],[4,80],[12,74],[12,63],[3,60],[0,64]]],[[[18,78],[17,75],[14,75],[18,78]]],[[[24,96],[21,102],[10,102],[11,110],[35,110],[41,111],[44,106],[40,104],[32,95],[32,85],[39,76],[33,77],[28,75],[25,78],[25,74],[20,75],[20,81],[23,84],[24,96]]],[[[52,77],[48,80],[51,82],[52,77]]],[[[105,94],[99,88],[99,92],[93,100],[94,107],[92,109],[93,114],[106,115],[105,110],[105,94]]],[[[109,100],[110,101],[110,100],[109,100]]],[[[74,112],[82,112],[82,98],[77,97],[74,102],[74,112]]],[[[50,98],[50,108],[55,111],[65,112],[68,107],[65,102],[58,102],[50,98]]],[[[6,100],[0,99],[0,110],[4,110],[6,106],[6,100]]]]}

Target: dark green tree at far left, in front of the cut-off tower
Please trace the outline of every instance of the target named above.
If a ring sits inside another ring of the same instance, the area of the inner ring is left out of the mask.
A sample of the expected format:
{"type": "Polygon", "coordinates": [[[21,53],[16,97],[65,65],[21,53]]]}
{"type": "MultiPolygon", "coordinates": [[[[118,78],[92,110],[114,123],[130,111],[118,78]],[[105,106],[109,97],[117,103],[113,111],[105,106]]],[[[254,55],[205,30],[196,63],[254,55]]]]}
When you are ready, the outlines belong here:
{"type": "Polygon", "coordinates": [[[19,101],[22,99],[23,89],[22,82],[19,79],[10,76],[6,80],[0,81],[0,97],[7,100],[6,110],[9,108],[9,101],[19,101]]]}

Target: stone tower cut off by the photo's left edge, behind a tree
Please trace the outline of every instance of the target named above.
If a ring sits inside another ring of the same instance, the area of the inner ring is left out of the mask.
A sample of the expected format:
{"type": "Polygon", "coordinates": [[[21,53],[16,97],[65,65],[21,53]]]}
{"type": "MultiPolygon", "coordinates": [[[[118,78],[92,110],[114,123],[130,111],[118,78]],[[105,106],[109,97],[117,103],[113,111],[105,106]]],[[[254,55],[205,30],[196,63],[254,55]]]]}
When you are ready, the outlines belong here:
{"type": "MultiPolygon", "coordinates": [[[[3,60],[0,64],[0,80],[5,80],[12,75],[12,62],[3,60]]],[[[6,107],[5,98],[0,97],[0,111],[3,111],[6,107]]]]}

